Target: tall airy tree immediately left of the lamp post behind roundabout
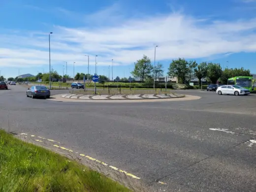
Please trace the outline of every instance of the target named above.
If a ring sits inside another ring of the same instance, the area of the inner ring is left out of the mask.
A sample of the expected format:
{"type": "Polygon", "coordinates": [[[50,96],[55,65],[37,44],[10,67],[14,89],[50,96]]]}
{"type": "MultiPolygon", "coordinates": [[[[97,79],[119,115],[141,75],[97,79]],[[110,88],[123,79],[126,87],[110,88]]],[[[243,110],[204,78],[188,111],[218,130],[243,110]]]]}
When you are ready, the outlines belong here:
{"type": "Polygon", "coordinates": [[[137,63],[134,63],[134,70],[131,71],[131,74],[134,77],[139,77],[144,83],[144,79],[152,74],[153,65],[151,64],[150,59],[143,55],[141,60],[137,60],[137,63]]]}

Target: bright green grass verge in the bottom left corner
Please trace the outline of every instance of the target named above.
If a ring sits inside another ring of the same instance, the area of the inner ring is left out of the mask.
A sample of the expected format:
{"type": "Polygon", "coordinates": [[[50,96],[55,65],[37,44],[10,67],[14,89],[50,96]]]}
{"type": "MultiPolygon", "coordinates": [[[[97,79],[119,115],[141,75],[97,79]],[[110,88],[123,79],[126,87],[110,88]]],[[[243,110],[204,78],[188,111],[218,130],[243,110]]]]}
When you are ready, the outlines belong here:
{"type": "Polygon", "coordinates": [[[0,192],[129,192],[111,179],[0,130],[0,192]]]}

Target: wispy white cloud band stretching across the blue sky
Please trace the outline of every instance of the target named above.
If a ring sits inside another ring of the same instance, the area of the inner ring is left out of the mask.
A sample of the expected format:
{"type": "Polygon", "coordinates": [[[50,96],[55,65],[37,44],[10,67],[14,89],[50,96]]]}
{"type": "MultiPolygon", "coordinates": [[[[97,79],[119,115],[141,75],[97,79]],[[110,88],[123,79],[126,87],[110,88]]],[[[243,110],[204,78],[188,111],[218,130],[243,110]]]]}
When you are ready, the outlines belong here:
{"type": "MultiPolygon", "coordinates": [[[[111,15],[115,9],[108,8],[88,16],[119,21],[119,25],[95,28],[68,28],[55,26],[51,35],[51,59],[53,64],[87,62],[97,57],[98,65],[133,64],[143,54],[157,61],[173,58],[204,58],[219,54],[256,52],[256,19],[238,21],[210,21],[196,19],[182,13],[153,15],[139,19],[124,19],[111,15]]],[[[62,10],[66,12],[66,10],[62,10]]],[[[119,12],[118,12],[119,13],[119,12]]],[[[68,12],[71,14],[71,12],[68,12]]],[[[0,34],[0,66],[34,66],[48,64],[48,33],[9,32],[0,34]]]]}

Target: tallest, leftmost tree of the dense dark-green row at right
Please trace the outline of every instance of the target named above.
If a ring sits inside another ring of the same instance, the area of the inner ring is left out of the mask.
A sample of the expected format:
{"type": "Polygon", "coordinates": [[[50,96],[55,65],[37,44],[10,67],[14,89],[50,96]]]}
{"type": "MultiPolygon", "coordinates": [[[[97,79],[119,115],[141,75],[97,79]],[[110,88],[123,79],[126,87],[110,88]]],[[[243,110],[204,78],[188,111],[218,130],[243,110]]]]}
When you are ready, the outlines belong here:
{"type": "Polygon", "coordinates": [[[181,58],[179,58],[178,60],[172,60],[172,63],[170,63],[168,70],[168,75],[177,77],[178,83],[180,83],[180,79],[182,80],[182,82],[184,82],[189,72],[188,62],[185,59],[181,58]]]}

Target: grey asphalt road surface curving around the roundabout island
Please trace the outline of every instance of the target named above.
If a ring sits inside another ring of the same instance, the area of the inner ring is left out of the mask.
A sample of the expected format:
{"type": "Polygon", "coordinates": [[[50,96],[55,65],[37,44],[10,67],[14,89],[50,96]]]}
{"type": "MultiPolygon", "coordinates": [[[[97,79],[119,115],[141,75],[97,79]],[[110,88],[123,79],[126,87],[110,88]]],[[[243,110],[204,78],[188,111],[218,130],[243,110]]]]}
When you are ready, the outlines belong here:
{"type": "MultiPolygon", "coordinates": [[[[199,100],[76,103],[0,90],[0,126],[60,141],[166,192],[256,191],[256,95],[199,100]],[[158,181],[165,184],[159,184],[158,181]]],[[[53,90],[53,94],[67,91],[53,90]]]]}

